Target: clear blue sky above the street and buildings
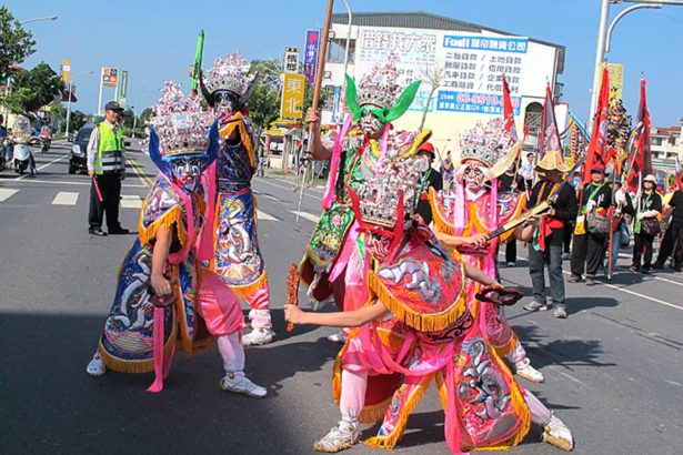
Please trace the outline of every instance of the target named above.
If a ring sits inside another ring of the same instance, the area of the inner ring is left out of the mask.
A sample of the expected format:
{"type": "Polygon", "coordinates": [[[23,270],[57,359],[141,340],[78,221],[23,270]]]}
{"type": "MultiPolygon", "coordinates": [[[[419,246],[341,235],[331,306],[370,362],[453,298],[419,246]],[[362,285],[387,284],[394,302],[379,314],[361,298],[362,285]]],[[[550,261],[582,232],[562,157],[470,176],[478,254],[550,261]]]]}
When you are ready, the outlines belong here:
{"type": "MultiPolygon", "coordinates": [[[[204,29],[204,62],[239,50],[249,59],[280,58],[284,47],[303,47],[304,31],[322,27],[324,0],[9,0],[3,2],[20,20],[57,14],[54,22],[27,27],[38,52],[24,65],[46,61],[58,70],[71,59],[72,72],[96,70],[77,79],[79,103],[97,105],[99,69],[112,65],[130,71],[129,103],[153,104],[163,80],[188,88],[188,67],[194,58],[197,33],[204,29]]],[[[552,41],[566,47],[563,101],[585,118],[592,83],[599,0],[349,0],[354,11],[425,10],[450,18],[552,41]]],[[[612,16],[623,9],[612,7],[612,16]]],[[[335,12],[343,3],[335,2],[335,12]]],[[[683,117],[683,7],[640,10],[626,16],[613,36],[609,60],[624,63],[624,102],[637,109],[641,72],[647,79],[647,101],[654,125],[677,124],[683,117]]],[[[207,65],[204,63],[204,65],[207,65]]],[[[113,97],[113,91],[104,98],[113,97]]]]}

